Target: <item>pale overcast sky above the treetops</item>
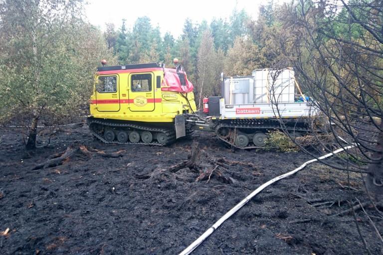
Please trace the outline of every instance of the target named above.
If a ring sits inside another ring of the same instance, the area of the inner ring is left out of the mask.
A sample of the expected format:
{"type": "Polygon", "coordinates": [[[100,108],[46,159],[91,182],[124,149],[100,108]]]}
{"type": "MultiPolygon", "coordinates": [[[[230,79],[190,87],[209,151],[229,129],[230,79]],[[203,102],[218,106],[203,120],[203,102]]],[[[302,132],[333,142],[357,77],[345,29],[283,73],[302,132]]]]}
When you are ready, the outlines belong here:
{"type": "MultiPolygon", "coordinates": [[[[104,30],[105,23],[114,23],[119,28],[122,19],[132,28],[137,17],[148,16],[152,25],[159,25],[164,35],[169,31],[176,38],[182,33],[184,21],[190,17],[193,22],[203,19],[210,22],[213,17],[228,18],[232,10],[244,8],[253,18],[258,8],[269,0],[88,0],[86,14],[90,23],[104,30]]],[[[287,0],[274,0],[282,2],[287,0]]]]}

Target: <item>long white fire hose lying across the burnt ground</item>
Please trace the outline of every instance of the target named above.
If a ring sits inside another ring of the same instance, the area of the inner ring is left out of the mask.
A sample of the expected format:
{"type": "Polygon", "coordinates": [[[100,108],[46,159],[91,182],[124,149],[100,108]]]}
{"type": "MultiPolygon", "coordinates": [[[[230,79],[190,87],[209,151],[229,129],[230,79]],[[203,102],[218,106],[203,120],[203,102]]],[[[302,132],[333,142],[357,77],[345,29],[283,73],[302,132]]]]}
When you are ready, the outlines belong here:
{"type": "MultiPolygon", "coordinates": [[[[319,157],[318,159],[325,159],[327,157],[330,157],[334,154],[337,154],[338,152],[341,152],[343,150],[346,150],[346,149],[351,149],[355,147],[355,145],[350,145],[350,146],[347,146],[347,147],[343,147],[343,148],[340,148],[340,149],[337,149],[333,152],[330,152],[326,155],[323,155],[321,157],[319,157]]],[[[219,226],[221,226],[221,224],[223,222],[225,222],[228,218],[230,218],[234,213],[236,213],[239,209],[241,209],[247,202],[249,202],[255,195],[257,195],[259,192],[261,192],[264,188],[266,188],[267,186],[273,184],[274,182],[277,182],[283,178],[286,178],[287,176],[290,176],[290,175],[293,175],[295,174],[296,172],[298,172],[299,170],[301,170],[302,168],[304,168],[305,166],[307,166],[308,164],[311,164],[315,161],[318,161],[318,159],[314,158],[314,159],[311,159],[305,163],[303,163],[300,167],[292,170],[291,172],[288,172],[288,173],[285,173],[285,174],[282,174],[282,175],[279,175],[278,177],[275,177],[274,179],[271,179],[269,180],[268,182],[262,184],[261,186],[259,186],[256,190],[254,190],[250,195],[248,195],[245,199],[243,199],[241,202],[239,202],[236,206],[234,206],[233,208],[231,208],[230,211],[228,211],[225,215],[223,215],[216,223],[214,223],[213,226],[211,226],[208,230],[206,230],[205,233],[203,233],[198,239],[196,239],[190,246],[188,246],[188,248],[186,248],[182,253],[180,253],[180,255],[188,255],[188,254],[191,254],[192,251],[194,251],[195,248],[197,248],[200,244],[202,244],[203,241],[205,241],[205,239],[207,237],[209,237],[219,226]]]]}

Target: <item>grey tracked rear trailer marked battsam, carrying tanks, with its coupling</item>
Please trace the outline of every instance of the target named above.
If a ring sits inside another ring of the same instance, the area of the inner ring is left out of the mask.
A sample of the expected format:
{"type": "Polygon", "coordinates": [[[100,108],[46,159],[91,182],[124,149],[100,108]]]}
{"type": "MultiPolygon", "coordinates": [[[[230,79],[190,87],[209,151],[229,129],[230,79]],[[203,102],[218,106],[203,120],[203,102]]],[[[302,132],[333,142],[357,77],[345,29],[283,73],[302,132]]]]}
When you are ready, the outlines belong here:
{"type": "Polygon", "coordinates": [[[302,136],[310,131],[310,121],[318,114],[316,103],[306,100],[290,69],[222,77],[221,91],[222,97],[208,98],[208,117],[184,115],[186,129],[215,132],[220,140],[237,148],[264,147],[272,130],[287,129],[293,137],[302,136]],[[303,100],[295,100],[296,89],[303,100]]]}

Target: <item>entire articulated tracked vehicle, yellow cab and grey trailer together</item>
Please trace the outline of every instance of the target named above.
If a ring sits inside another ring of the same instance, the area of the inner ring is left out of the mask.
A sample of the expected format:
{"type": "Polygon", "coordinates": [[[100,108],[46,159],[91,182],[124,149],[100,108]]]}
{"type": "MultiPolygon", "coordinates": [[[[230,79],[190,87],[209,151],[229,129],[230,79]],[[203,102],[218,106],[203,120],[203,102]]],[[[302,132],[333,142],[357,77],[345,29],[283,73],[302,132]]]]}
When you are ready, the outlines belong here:
{"type": "Polygon", "coordinates": [[[88,118],[92,134],[106,143],[167,145],[192,130],[203,130],[215,132],[232,147],[250,149],[264,147],[270,130],[304,135],[318,114],[316,103],[300,91],[293,70],[259,69],[252,76],[221,74],[221,96],[204,99],[208,116],[198,116],[193,85],[175,64],[99,67],[88,118]]]}

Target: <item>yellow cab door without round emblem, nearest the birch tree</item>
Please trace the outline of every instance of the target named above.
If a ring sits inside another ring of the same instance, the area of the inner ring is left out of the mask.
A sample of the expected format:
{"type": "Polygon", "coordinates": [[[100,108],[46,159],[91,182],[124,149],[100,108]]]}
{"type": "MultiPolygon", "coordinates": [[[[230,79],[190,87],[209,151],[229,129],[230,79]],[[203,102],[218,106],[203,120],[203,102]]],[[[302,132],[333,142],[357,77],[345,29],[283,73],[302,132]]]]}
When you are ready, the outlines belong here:
{"type": "Polygon", "coordinates": [[[99,112],[120,111],[118,75],[100,75],[96,80],[96,109],[99,112]]]}

